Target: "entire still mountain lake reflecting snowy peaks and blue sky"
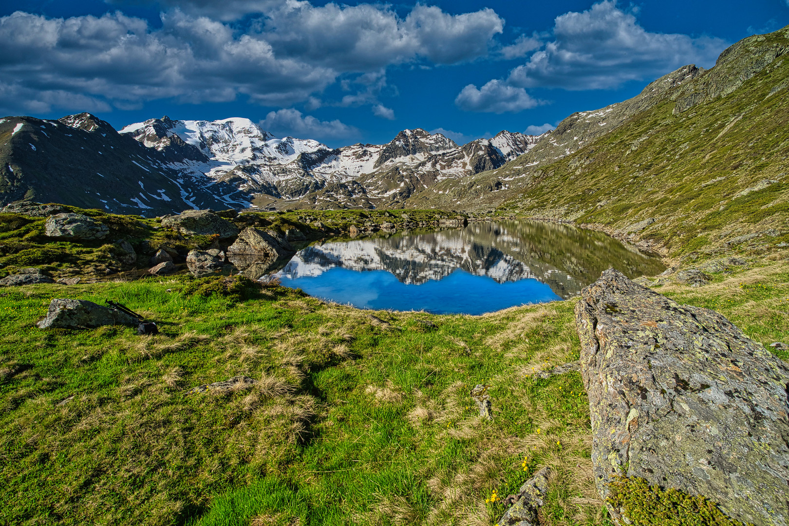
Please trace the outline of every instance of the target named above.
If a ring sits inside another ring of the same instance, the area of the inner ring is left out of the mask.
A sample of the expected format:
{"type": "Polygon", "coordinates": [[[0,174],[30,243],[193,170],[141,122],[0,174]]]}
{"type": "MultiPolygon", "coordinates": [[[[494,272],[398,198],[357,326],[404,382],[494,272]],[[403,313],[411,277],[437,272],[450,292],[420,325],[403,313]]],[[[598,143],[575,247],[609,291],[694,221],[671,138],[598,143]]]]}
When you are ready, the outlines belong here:
{"type": "Polygon", "coordinates": [[[630,278],[665,269],[603,233],[521,220],[329,240],[275,275],[358,308],[477,315],[574,297],[608,267],[630,278]]]}

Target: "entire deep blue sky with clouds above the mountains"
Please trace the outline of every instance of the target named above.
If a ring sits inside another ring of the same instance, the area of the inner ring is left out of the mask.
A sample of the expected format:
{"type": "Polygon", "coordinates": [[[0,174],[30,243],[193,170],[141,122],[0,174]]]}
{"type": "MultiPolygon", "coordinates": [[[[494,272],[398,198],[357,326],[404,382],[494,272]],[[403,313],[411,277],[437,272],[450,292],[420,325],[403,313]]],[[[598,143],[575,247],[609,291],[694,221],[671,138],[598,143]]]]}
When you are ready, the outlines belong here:
{"type": "Polygon", "coordinates": [[[541,132],[711,67],[789,0],[6,0],[0,114],[245,117],[333,147],[541,132]]]}

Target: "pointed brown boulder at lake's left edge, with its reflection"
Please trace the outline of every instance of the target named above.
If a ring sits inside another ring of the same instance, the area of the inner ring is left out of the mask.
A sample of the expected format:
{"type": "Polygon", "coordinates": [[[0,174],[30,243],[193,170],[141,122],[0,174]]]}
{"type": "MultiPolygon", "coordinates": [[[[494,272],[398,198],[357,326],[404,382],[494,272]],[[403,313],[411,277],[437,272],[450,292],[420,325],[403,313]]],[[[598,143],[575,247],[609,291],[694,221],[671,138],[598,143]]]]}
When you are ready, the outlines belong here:
{"type": "Polygon", "coordinates": [[[295,253],[281,233],[250,226],[227,248],[227,259],[247,278],[257,279],[283,266],[295,253]]]}

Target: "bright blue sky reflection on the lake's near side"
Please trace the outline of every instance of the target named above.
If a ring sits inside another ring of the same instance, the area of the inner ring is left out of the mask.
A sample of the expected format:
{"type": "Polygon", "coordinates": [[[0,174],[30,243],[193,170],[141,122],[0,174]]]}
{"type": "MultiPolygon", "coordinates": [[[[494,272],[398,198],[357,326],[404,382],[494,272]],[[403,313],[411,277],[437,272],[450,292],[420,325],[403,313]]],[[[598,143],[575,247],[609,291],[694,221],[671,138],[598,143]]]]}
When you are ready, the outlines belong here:
{"type": "Polygon", "coordinates": [[[395,311],[425,310],[434,314],[484,314],[513,305],[561,300],[537,279],[497,283],[487,276],[454,270],[439,281],[406,284],[387,270],[348,270],[334,267],[303,278],[282,276],[282,285],[298,287],[310,296],[358,308],[395,311]]]}

